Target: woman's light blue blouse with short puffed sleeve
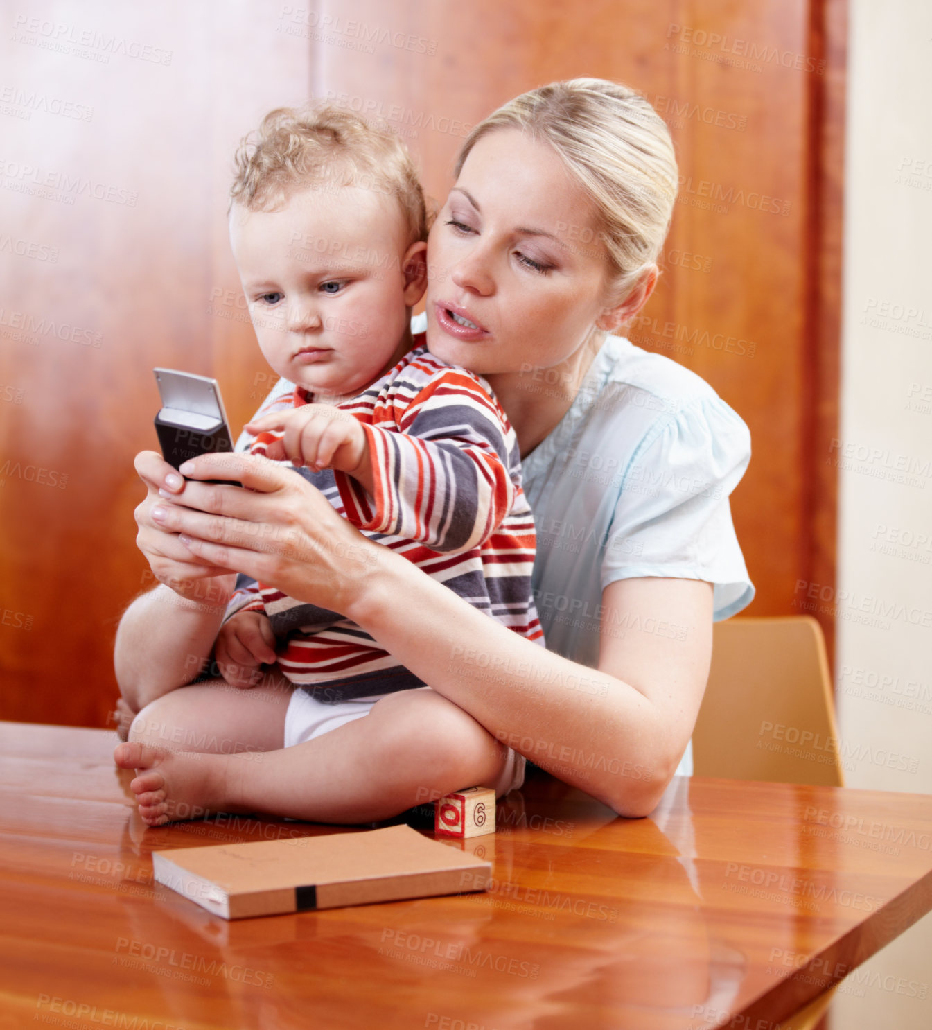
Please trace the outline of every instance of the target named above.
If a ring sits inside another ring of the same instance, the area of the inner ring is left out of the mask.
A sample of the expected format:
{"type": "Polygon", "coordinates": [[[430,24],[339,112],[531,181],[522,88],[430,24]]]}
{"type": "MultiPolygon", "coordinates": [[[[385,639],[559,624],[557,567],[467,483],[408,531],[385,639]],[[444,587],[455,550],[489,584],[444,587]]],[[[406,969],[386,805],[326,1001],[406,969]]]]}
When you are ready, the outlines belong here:
{"type": "MultiPolygon", "coordinates": [[[[540,385],[547,389],[547,372],[540,385]]],[[[534,513],[533,590],[551,651],[595,667],[601,592],[640,576],[714,584],[715,619],[754,597],[728,495],[748,426],[695,373],[610,336],[569,410],[523,459],[534,513]]],[[[636,625],[636,613],[619,616],[636,625]]],[[[686,629],[644,628],[677,639],[686,629]]],[[[692,774],[692,744],[677,774],[692,774]]]]}

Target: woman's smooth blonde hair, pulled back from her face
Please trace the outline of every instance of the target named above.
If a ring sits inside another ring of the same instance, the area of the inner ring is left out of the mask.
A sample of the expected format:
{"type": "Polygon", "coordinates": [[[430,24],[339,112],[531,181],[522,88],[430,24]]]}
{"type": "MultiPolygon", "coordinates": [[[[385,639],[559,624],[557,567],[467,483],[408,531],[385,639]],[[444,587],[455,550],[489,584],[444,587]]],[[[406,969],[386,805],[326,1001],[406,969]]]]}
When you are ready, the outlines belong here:
{"type": "Polygon", "coordinates": [[[677,158],[669,131],[650,103],[626,85],[573,78],[522,93],[480,122],[456,160],[496,129],[519,129],[549,143],[595,204],[610,289],[620,303],[655,265],[677,197],[677,158]]]}

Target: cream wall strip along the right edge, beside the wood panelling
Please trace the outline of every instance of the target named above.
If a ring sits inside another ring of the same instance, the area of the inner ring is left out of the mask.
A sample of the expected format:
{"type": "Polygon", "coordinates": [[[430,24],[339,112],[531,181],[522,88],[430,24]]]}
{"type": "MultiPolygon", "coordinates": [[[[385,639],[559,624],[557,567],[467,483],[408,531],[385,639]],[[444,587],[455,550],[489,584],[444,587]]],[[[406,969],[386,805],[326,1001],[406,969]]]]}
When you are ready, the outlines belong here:
{"type": "MultiPolygon", "coordinates": [[[[932,5],[850,16],[839,730],[850,787],[932,793],[932,5]]],[[[832,1030],[932,1026],[932,917],[831,1012],[832,1030]]]]}

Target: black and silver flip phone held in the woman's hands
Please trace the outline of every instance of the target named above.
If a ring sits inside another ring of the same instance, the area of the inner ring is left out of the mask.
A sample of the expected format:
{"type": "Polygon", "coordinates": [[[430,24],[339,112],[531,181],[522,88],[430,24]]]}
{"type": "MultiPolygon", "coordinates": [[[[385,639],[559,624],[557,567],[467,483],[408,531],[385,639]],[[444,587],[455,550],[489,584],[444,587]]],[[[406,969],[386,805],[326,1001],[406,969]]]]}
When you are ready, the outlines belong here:
{"type": "MultiPolygon", "coordinates": [[[[216,379],[175,369],[153,369],[153,372],[162,398],[156,433],[165,460],[177,469],[199,454],[232,451],[233,437],[216,379]]],[[[228,479],[206,482],[240,485],[228,479]]]]}

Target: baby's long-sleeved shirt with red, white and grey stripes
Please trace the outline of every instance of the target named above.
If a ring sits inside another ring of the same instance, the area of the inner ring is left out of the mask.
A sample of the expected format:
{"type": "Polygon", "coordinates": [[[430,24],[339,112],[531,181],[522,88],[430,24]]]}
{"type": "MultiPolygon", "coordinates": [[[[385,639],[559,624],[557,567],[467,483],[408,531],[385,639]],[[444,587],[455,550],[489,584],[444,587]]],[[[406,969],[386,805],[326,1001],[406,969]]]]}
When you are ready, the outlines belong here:
{"type": "MultiPolygon", "coordinates": [[[[313,483],[371,540],[543,644],[530,586],[533,518],[521,487],[514,430],[484,379],[435,357],[422,341],[415,337],[419,345],[381,379],[338,404],[366,433],[374,495],[345,473],[281,464],[313,483]]],[[[312,401],[303,387],[282,380],[256,417],[312,401]]],[[[237,449],[264,454],[279,436],[246,435],[237,449]]],[[[421,685],[337,612],[240,576],[226,619],[243,610],[269,617],[279,642],[279,667],[292,683],[314,687],[318,700],[344,701],[421,685]],[[339,689],[319,689],[338,683],[339,689]]]]}

